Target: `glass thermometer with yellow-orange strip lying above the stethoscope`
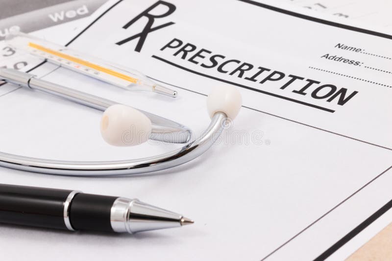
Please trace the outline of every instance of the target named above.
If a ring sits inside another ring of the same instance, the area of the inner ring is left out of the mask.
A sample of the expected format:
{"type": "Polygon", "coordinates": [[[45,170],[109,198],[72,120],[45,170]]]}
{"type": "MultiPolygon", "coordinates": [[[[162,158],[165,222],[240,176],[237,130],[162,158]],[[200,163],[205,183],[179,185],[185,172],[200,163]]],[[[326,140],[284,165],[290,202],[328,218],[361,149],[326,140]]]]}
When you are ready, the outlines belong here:
{"type": "Polygon", "coordinates": [[[50,43],[19,31],[10,32],[5,42],[17,50],[25,51],[55,65],[63,66],[124,89],[151,90],[171,97],[177,96],[175,90],[154,83],[146,75],[136,70],[114,65],[66,46],[50,43]]]}

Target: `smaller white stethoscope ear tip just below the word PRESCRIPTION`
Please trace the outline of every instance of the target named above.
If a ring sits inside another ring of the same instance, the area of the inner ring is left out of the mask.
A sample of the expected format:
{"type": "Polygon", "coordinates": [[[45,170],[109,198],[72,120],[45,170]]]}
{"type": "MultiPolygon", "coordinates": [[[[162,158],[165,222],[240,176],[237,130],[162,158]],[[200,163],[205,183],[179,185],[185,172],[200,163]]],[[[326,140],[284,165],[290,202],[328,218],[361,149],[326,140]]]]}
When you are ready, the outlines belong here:
{"type": "Polygon", "coordinates": [[[212,118],[216,112],[224,112],[234,120],[242,106],[240,91],[231,85],[215,87],[207,98],[208,114],[212,118]]]}

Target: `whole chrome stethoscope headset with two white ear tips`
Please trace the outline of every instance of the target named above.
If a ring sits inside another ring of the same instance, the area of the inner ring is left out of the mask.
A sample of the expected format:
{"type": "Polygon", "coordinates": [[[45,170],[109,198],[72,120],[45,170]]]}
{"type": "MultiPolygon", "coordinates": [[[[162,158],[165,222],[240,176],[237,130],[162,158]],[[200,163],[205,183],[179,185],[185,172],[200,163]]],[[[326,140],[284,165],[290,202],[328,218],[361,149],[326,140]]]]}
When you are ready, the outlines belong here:
{"type": "Polygon", "coordinates": [[[207,98],[211,123],[198,138],[191,140],[192,132],[179,123],[147,111],[44,81],[29,73],[0,69],[0,80],[104,111],[100,124],[101,134],[111,145],[133,146],[148,139],[185,144],[172,152],[118,161],[50,160],[0,152],[0,166],[45,174],[75,176],[143,174],[184,164],[206,152],[218,140],[226,122],[237,116],[242,105],[241,94],[235,87],[222,86],[213,89],[207,98]]]}

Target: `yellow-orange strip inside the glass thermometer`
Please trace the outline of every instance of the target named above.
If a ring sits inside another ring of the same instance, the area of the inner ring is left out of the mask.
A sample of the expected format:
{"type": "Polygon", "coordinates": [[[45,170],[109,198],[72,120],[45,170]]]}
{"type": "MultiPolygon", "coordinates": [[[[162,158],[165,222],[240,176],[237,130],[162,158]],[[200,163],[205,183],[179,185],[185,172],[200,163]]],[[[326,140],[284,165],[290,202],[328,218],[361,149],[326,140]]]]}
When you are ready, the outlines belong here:
{"type": "MultiPolygon", "coordinates": [[[[41,55],[43,55],[45,57],[49,57],[49,59],[53,59],[53,55],[54,55],[57,58],[62,58],[62,59],[67,60],[68,61],[68,62],[66,62],[67,65],[70,65],[71,62],[73,62],[75,64],[78,64],[78,65],[74,66],[76,68],[80,68],[81,67],[80,65],[83,65],[85,67],[88,67],[88,69],[95,69],[96,72],[98,71],[98,73],[95,72],[95,74],[99,74],[99,72],[104,72],[104,73],[107,73],[107,74],[109,74],[111,76],[114,76],[114,77],[126,80],[126,81],[134,83],[134,84],[136,84],[138,82],[138,79],[136,79],[136,78],[127,76],[125,74],[116,72],[114,70],[111,70],[111,69],[108,69],[108,68],[105,68],[105,67],[102,67],[102,66],[99,66],[99,65],[96,65],[96,64],[84,61],[84,60],[81,60],[81,59],[73,57],[71,55],[64,54],[62,52],[58,52],[58,51],[46,48],[46,47],[41,46],[41,45],[36,44],[36,43],[28,43],[28,46],[33,48],[33,49],[40,50],[41,51],[41,55]]],[[[58,60],[58,61],[60,61],[60,60],[58,60]]]]}

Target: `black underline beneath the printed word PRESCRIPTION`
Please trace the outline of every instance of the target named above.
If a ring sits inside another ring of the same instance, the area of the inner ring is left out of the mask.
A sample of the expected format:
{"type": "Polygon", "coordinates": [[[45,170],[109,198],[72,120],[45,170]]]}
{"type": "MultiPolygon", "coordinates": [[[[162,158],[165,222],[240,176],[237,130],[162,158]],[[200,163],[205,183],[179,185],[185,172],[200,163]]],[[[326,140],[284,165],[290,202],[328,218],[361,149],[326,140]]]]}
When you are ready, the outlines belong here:
{"type": "Polygon", "coordinates": [[[174,64],[173,62],[170,62],[170,61],[168,61],[168,60],[166,60],[164,58],[158,57],[156,55],[152,55],[151,57],[155,58],[155,59],[157,59],[157,60],[159,60],[161,62],[164,62],[164,63],[167,63],[169,65],[172,65],[174,67],[180,68],[182,70],[185,70],[185,71],[188,71],[188,72],[192,72],[194,74],[197,74],[197,75],[200,75],[200,76],[203,76],[203,77],[206,77],[206,78],[217,80],[217,81],[220,81],[222,83],[231,84],[231,85],[242,87],[242,88],[245,88],[245,89],[248,89],[248,90],[257,91],[257,92],[260,92],[260,93],[263,93],[263,94],[266,94],[266,95],[270,95],[270,96],[273,96],[273,97],[276,97],[276,98],[280,98],[280,99],[283,99],[283,100],[291,101],[291,102],[298,103],[298,104],[301,104],[301,105],[305,105],[305,106],[308,106],[308,107],[312,107],[312,108],[315,108],[315,109],[320,109],[320,110],[324,110],[324,111],[328,111],[328,112],[332,112],[332,113],[335,112],[335,110],[333,110],[333,109],[324,108],[324,107],[321,107],[321,106],[318,106],[318,105],[314,105],[314,104],[311,104],[311,103],[295,100],[295,99],[292,99],[292,98],[289,98],[289,97],[286,97],[286,96],[282,96],[282,95],[275,94],[275,93],[268,92],[268,91],[261,90],[261,89],[248,87],[248,86],[245,86],[245,85],[242,85],[242,84],[237,84],[237,83],[230,82],[230,81],[227,81],[227,80],[224,80],[224,79],[220,79],[220,78],[217,78],[217,77],[214,77],[214,76],[210,76],[208,74],[204,74],[204,73],[201,73],[201,72],[198,72],[198,71],[194,71],[194,70],[191,70],[191,69],[186,68],[184,66],[174,64]]]}

